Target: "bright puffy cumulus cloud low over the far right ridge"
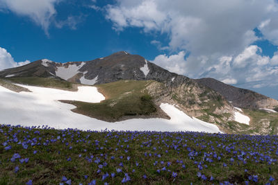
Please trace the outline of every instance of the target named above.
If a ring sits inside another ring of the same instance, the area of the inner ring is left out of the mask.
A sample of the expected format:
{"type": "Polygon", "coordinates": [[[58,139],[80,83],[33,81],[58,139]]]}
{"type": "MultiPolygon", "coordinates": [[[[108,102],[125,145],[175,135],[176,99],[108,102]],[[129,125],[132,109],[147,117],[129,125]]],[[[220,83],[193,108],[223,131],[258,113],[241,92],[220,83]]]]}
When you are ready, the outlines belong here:
{"type": "Polygon", "coordinates": [[[202,69],[204,73],[201,77],[217,78],[231,85],[245,84],[245,88],[278,84],[278,67],[274,65],[278,59],[277,53],[270,58],[262,56],[261,52],[259,46],[251,45],[238,55],[218,58],[213,65],[208,64],[210,67],[202,69]]]}

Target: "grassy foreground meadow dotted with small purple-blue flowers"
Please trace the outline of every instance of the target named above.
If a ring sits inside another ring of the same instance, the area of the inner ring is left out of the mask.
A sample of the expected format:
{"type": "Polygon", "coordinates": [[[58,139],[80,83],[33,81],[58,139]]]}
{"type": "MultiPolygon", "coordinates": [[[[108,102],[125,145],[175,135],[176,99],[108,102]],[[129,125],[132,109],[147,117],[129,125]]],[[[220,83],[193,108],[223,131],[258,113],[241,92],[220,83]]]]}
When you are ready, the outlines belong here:
{"type": "Polygon", "coordinates": [[[277,184],[278,136],[0,125],[0,184],[277,184]]]}

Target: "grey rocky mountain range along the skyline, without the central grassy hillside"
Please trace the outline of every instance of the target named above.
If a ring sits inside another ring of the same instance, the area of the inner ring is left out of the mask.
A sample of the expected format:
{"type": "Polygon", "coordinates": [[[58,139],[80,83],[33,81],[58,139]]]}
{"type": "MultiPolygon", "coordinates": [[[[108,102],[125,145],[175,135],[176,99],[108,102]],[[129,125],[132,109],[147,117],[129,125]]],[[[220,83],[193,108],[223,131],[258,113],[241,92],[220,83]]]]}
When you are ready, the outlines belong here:
{"type": "MultiPolygon", "coordinates": [[[[0,71],[0,78],[4,80],[20,82],[18,79],[30,77],[54,78],[84,85],[103,85],[119,80],[154,80],[157,83],[145,87],[144,91],[152,96],[155,105],[176,105],[189,116],[214,123],[224,132],[252,130],[252,125],[247,128],[236,121],[236,112],[249,116],[252,122],[254,112],[259,112],[256,115],[268,115],[274,114],[278,108],[277,100],[254,91],[226,85],[213,78],[191,79],[171,73],[140,55],[131,55],[125,51],[87,62],[60,63],[43,59],[0,71]]],[[[276,125],[269,116],[259,119],[267,120],[263,124],[276,125]]],[[[258,133],[261,131],[254,132],[258,133]]]]}

